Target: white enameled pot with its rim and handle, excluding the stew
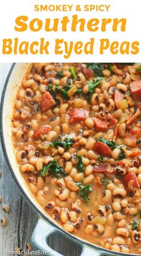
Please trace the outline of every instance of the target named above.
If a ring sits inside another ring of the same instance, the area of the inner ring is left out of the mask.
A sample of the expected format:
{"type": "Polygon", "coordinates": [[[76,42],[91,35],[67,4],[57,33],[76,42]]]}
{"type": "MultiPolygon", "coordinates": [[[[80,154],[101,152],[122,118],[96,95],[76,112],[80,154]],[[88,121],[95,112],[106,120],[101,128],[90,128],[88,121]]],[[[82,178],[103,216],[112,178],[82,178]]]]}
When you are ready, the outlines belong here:
{"type": "MultiPolygon", "coordinates": [[[[61,233],[63,236],[79,244],[82,248],[81,256],[100,256],[100,255],[128,255],[119,252],[112,252],[108,249],[101,248],[100,246],[93,245],[86,240],[75,237],[69,234],[57,224],[47,213],[44,212],[38,202],[33,198],[32,193],[29,191],[26,182],[19,171],[19,166],[16,162],[14,154],[13,142],[11,140],[11,116],[13,113],[13,104],[16,98],[17,90],[22,82],[23,76],[27,71],[30,64],[13,64],[10,73],[8,74],[5,82],[4,90],[1,98],[1,141],[4,150],[5,159],[11,174],[20,189],[20,192],[29,202],[30,206],[38,212],[39,220],[32,234],[32,245],[36,250],[49,251],[51,256],[61,256],[58,252],[54,251],[48,246],[47,240],[50,234],[61,233]]],[[[136,246],[136,245],[135,245],[136,246]]],[[[69,249],[69,248],[68,248],[69,249]]],[[[134,254],[130,254],[134,255],[134,254]]],[[[75,255],[72,255],[75,256],[75,255]]],[[[136,256],[136,255],[134,255],[136,256]]]]}

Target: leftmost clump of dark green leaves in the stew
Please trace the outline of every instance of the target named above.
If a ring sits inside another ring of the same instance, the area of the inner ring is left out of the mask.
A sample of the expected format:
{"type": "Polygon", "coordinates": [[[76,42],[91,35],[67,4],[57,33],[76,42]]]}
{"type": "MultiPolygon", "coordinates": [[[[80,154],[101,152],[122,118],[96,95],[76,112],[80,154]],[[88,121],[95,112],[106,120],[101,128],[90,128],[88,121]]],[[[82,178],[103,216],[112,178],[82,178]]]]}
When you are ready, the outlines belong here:
{"type": "Polygon", "coordinates": [[[41,175],[45,177],[46,173],[49,173],[50,175],[55,175],[56,177],[64,177],[66,174],[63,171],[63,168],[57,163],[57,160],[54,159],[49,164],[44,165],[44,168],[41,171],[41,175]]]}

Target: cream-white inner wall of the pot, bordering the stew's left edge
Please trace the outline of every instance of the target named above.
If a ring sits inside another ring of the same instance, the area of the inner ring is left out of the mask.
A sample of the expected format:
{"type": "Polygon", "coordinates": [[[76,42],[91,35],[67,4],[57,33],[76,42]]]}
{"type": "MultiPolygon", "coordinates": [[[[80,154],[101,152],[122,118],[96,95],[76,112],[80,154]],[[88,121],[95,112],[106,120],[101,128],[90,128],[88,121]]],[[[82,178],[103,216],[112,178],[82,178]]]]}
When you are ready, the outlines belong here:
{"type": "MultiPolygon", "coordinates": [[[[33,197],[26,182],[24,181],[22,175],[20,174],[19,165],[16,162],[16,156],[14,153],[13,141],[11,139],[11,135],[12,135],[11,118],[12,118],[12,114],[13,114],[14,100],[16,98],[17,90],[18,90],[19,86],[21,85],[24,74],[26,73],[27,69],[29,68],[29,65],[30,64],[16,64],[13,68],[10,79],[8,81],[7,89],[5,92],[5,98],[4,98],[3,113],[2,113],[4,142],[5,142],[5,148],[7,150],[8,159],[10,161],[11,167],[14,171],[14,174],[16,176],[18,183],[20,184],[20,186],[26,193],[27,197],[30,198],[30,201],[32,201],[32,203],[36,207],[38,207],[38,209],[41,210],[45,216],[44,211],[42,210],[41,206],[39,206],[39,204],[35,200],[35,198],[33,197]]],[[[46,216],[47,216],[47,214],[46,214],[46,216]]],[[[49,215],[48,215],[48,217],[50,218],[49,215]]]]}

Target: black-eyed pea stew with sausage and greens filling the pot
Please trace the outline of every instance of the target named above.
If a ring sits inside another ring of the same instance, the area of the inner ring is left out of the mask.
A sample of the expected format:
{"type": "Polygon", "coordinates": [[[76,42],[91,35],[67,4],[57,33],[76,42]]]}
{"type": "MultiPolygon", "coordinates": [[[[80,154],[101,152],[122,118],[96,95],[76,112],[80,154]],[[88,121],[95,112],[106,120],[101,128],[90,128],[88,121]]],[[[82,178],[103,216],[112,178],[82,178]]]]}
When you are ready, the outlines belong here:
{"type": "Polygon", "coordinates": [[[12,119],[19,170],[44,212],[69,233],[127,254],[141,248],[136,68],[31,64],[12,119]]]}

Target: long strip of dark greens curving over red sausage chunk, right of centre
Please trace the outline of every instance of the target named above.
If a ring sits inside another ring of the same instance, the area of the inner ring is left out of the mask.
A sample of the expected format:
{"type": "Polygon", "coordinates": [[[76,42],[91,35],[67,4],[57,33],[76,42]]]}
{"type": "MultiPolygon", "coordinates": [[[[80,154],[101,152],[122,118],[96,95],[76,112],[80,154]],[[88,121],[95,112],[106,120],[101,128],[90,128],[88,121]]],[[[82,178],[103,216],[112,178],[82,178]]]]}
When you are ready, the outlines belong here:
{"type": "Polygon", "coordinates": [[[97,138],[96,141],[102,141],[103,143],[105,143],[111,150],[114,150],[116,147],[118,149],[120,149],[121,153],[117,159],[117,161],[119,160],[122,160],[125,158],[125,153],[124,153],[124,150],[122,149],[122,146],[118,146],[117,143],[114,141],[114,140],[105,140],[105,138],[103,137],[100,137],[100,138],[97,138]]]}

